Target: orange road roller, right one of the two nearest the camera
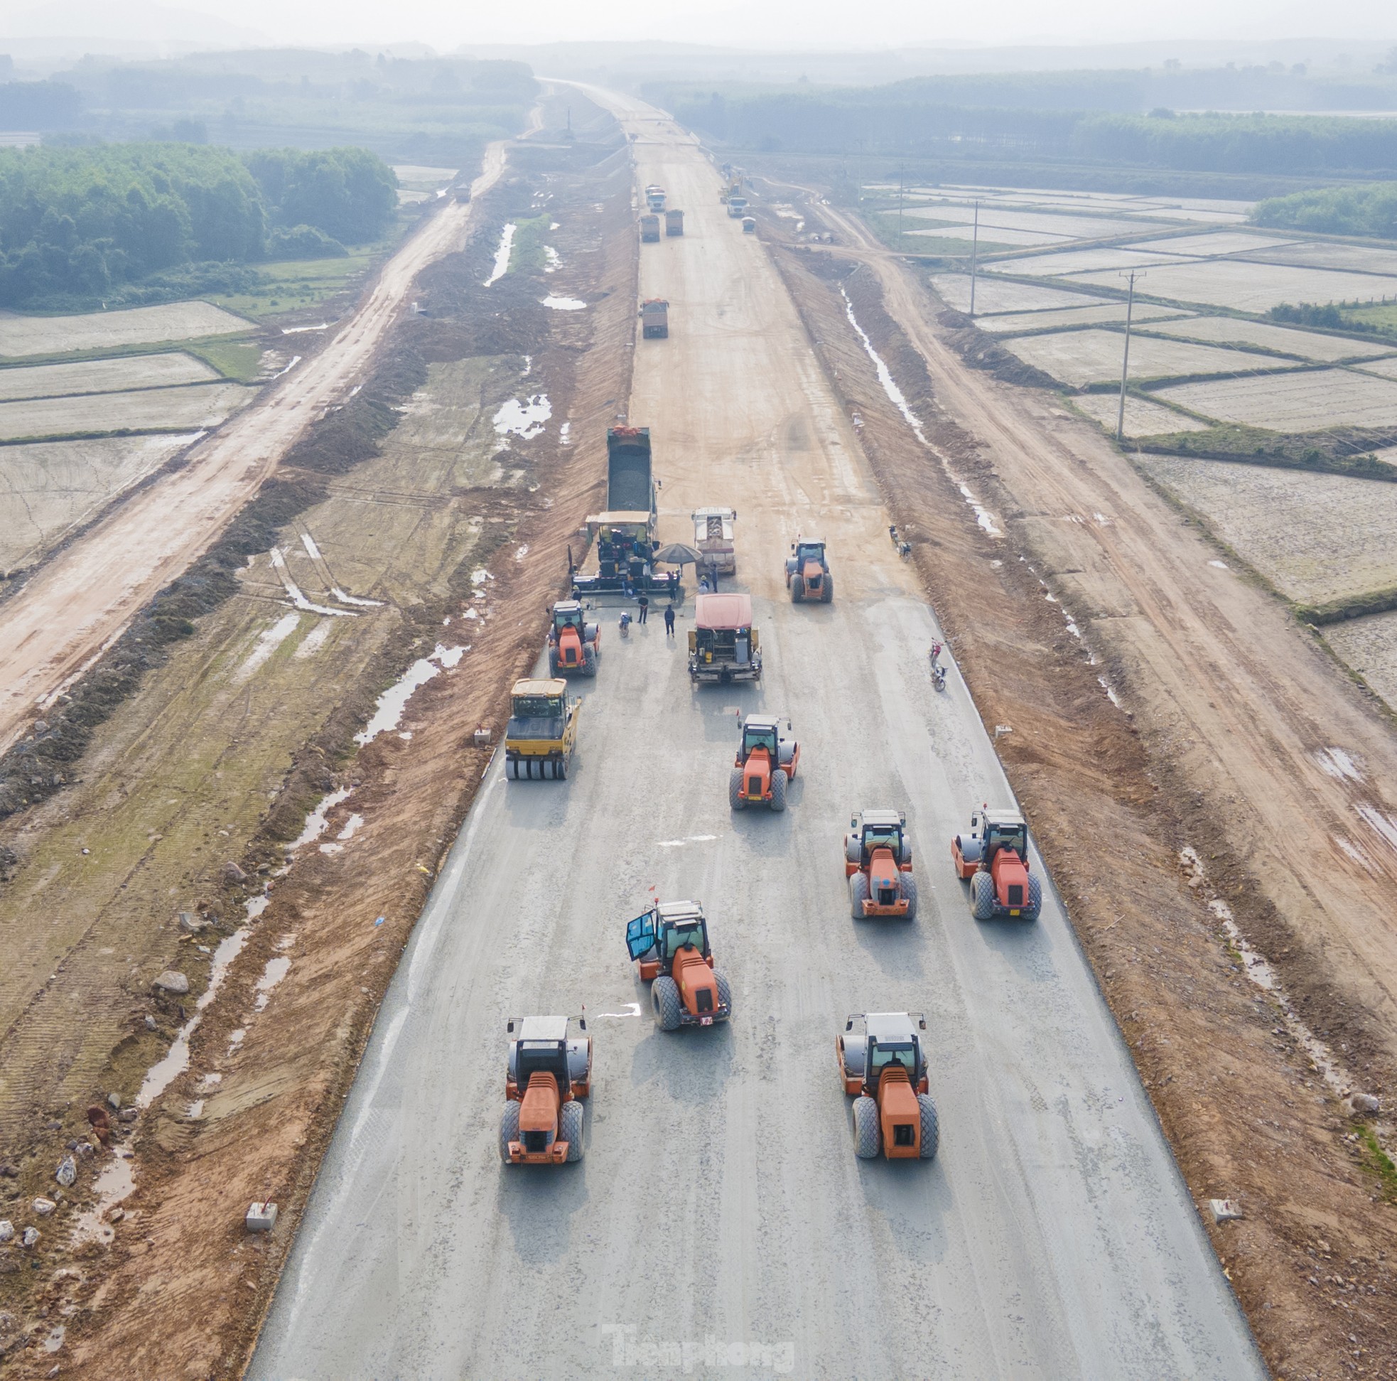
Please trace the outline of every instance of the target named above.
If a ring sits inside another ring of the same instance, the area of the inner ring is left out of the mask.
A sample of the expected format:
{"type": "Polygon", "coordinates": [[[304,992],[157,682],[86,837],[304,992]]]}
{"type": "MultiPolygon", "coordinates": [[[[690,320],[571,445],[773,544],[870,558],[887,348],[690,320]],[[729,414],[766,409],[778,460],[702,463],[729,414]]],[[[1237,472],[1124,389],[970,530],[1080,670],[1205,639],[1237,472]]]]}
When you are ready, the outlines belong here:
{"type": "Polygon", "coordinates": [[[926,1076],[921,1012],[854,1012],[834,1037],[844,1092],[854,1096],[854,1153],[930,1160],[942,1129],[926,1076]]]}

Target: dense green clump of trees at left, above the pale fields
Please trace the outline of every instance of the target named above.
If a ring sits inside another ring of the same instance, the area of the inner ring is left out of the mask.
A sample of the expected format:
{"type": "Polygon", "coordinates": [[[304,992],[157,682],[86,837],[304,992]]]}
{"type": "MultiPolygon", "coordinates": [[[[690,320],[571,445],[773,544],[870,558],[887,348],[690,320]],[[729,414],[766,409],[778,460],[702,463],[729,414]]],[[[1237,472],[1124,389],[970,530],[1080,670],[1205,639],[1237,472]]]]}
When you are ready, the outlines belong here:
{"type": "MultiPolygon", "coordinates": [[[[377,239],[397,178],[360,148],[194,144],[0,150],[0,305],[101,298],[194,264],[377,239]]],[[[187,277],[187,274],[186,274],[187,277]]]]}

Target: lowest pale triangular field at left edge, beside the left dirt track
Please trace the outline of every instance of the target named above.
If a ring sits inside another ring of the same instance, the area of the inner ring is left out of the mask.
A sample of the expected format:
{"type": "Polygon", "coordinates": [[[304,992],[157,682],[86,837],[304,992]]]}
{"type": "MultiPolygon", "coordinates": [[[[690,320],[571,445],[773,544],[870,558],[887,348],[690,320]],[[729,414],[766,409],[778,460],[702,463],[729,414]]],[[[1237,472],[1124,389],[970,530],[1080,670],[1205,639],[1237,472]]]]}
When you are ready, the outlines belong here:
{"type": "Polygon", "coordinates": [[[103,436],[6,446],[0,450],[0,577],[32,566],[197,436],[103,436]]]}

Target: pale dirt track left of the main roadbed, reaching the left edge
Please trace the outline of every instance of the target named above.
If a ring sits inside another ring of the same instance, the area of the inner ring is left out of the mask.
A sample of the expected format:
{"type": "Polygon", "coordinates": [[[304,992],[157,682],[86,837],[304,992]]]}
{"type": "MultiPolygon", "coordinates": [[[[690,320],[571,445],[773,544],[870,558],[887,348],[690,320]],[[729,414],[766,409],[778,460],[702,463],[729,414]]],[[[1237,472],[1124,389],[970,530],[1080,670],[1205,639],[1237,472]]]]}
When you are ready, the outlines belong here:
{"type": "MultiPolygon", "coordinates": [[[[472,196],[493,186],[503,169],[504,144],[489,145],[472,196]]],[[[369,296],[316,355],[197,444],[180,470],[134,493],[0,604],[0,752],[46,697],[208,549],[306,426],[362,380],[418,273],[464,243],[469,219],[471,203],[443,205],[384,264],[369,296]]]]}

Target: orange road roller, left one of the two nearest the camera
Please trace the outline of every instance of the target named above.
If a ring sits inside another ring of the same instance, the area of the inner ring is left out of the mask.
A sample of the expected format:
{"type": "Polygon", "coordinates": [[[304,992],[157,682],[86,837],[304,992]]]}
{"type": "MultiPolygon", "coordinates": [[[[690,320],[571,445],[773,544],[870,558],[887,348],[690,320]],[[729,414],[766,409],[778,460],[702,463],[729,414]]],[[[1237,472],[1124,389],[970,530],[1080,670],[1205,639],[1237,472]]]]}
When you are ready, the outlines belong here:
{"type": "Polygon", "coordinates": [[[562,1166],[583,1159],[583,1104],[592,1089],[585,1016],[511,1016],[500,1160],[562,1166]]]}

